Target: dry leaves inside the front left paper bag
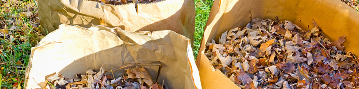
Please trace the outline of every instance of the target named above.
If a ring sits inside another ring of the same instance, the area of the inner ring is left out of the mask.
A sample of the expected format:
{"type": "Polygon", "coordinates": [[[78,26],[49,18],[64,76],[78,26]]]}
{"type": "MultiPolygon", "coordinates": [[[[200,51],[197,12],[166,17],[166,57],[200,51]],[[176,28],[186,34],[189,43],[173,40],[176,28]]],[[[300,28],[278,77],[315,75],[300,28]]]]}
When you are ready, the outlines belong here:
{"type": "Polygon", "coordinates": [[[110,71],[112,74],[105,74],[108,71],[105,71],[103,66],[98,72],[89,69],[85,75],[76,74],[76,77],[80,79],[65,78],[61,74],[53,74],[46,77],[48,82],[46,87],[49,89],[164,89],[163,85],[157,82],[153,83],[147,70],[140,66],[161,67],[161,64],[159,62],[127,64],[120,68],[125,69],[126,74],[119,78],[112,76],[112,70],[110,71]]]}

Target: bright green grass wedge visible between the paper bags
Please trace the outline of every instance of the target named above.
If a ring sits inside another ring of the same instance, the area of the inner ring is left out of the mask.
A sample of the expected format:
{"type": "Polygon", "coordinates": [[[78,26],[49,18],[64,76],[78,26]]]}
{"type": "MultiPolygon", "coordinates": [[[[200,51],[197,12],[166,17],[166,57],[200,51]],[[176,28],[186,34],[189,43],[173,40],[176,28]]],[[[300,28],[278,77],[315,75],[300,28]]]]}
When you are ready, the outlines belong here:
{"type": "Polygon", "coordinates": [[[201,45],[203,31],[206,26],[212,5],[213,5],[212,0],[195,0],[196,27],[195,27],[195,40],[194,40],[194,48],[193,48],[195,59],[197,58],[198,50],[201,45]]]}

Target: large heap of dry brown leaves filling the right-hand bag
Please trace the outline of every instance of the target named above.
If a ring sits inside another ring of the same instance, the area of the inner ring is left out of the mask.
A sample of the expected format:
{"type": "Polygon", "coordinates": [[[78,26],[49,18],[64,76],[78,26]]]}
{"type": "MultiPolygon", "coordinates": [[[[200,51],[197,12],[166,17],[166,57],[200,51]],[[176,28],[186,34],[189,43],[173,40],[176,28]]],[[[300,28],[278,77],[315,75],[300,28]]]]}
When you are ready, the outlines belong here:
{"type": "Polygon", "coordinates": [[[332,42],[314,26],[252,19],[206,43],[205,54],[241,88],[359,88],[358,58],[341,46],[345,36],[332,42]]]}

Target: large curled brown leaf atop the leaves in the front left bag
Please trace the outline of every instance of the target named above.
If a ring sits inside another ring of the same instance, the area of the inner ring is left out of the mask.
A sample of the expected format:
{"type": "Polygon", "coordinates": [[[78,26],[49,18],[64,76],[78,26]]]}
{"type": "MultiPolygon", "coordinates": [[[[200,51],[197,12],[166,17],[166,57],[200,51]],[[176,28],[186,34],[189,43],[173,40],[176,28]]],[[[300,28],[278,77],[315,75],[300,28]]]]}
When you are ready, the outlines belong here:
{"type": "Polygon", "coordinates": [[[150,77],[150,75],[148,74],[147,70],[144,67],[135,67],[135,68],[129,68],[126,69],[126,73],[128,74],[128,78],[132,78],[132,79],[140,79],[143,78],[144,82],[147,85],[152,85],[153,81],[150,77]]]}

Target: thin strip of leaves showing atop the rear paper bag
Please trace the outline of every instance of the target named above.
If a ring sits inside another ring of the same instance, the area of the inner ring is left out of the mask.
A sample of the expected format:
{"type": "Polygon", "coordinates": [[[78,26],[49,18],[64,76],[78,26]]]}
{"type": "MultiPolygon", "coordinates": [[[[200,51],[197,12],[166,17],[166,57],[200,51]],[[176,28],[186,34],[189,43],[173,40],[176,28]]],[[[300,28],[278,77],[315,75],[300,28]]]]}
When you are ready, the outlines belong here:
{"type": "Polygon", "coordinates": [[[124,4],[149,4],[149,3],[155,3],[162,0],[90,0],[90,1],[97,1],[97,2],[103,2],[104,4],[111,4],[111,5],[124,5],[124,4]]]}

